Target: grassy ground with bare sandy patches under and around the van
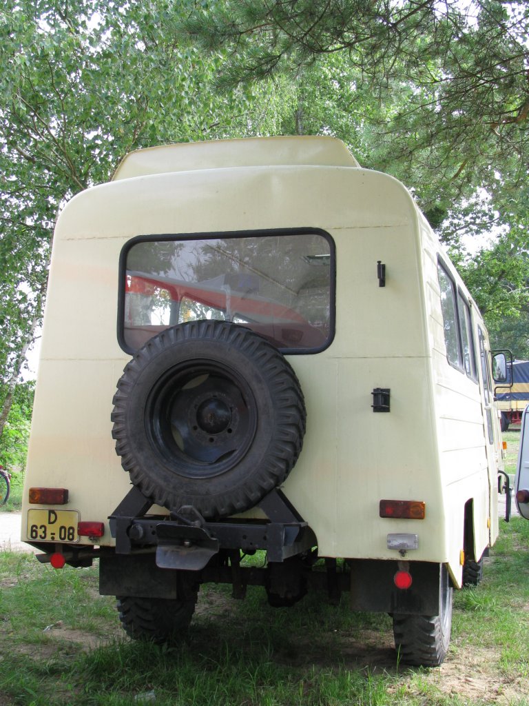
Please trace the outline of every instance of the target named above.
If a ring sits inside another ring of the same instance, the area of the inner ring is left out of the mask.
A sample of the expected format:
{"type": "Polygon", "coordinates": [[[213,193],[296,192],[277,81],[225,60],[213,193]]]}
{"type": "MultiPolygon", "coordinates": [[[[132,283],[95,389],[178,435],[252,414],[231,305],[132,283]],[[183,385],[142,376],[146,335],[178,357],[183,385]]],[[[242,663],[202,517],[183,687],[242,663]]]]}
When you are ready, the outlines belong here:
{"type": "MultiPolygon", "coordinates": [[[[511,447],[519,433],[505,436],[511,447]]],[[[274,610],[257,587],[238,602],[204,586],[182,645],[130,642],[97,566],[0,554],[0,706],[529,706],[529,522],[500,525],[482,584],[454,595],[449,657],[432,670],[399,665],[391,618],[352,613],[347,595],[274,610]]]]}

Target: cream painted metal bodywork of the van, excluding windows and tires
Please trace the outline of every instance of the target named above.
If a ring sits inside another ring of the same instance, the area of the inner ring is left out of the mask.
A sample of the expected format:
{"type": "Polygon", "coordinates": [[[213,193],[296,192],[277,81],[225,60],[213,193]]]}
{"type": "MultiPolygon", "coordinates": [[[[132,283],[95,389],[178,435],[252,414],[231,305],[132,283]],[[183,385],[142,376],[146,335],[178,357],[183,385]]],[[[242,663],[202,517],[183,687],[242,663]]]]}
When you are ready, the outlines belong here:
{"type": "Polygon", "coordinates": [[[130,359],[118,345],[116,313],[119,258],[131,238],[297,227],[323,229],[336,244],[336,334],[324,352],[288,358],[308,426],[286,496],[321,556],[395,559],[387,535],[418,534],[408,558],[449,563],[460,585],[466,501],[478,556],[497,536],[501,452],[497,415],[494,442],[487,438],[481,371],[475,383],[446,359],[438,256],[470,301],[475,340],[482,321],[408,191],[358,167],[332,138],[142,150],[114,181],[66,205],[54,238],[27,485],[68,488],[64,509],[105,522],[98,542],[113,544],[107,517],[130,488],[110,414],[130,359]],[[377,261],[387,265],[385,287],[377,261]],[[372,411],[377,387],[391,389],[389,414],[372,411]],[[424,501],[425,520],[379,517],[383,498],[424,501]]]}

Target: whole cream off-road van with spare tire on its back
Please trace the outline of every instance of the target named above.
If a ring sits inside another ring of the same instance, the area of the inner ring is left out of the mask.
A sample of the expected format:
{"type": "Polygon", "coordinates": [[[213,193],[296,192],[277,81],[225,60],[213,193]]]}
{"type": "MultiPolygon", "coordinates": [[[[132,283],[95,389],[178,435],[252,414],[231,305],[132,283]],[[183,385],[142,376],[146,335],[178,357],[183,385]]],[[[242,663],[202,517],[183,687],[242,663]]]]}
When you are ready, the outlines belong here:
{"type": "Polygon", "coordinates": [[[57,222],[23,540],[98,558],[133,638],[178,638],[204,582],[316,588],[436,666],[498,534],[490,376],[410,193],[339,140],[133,152],[57,222]]]}

